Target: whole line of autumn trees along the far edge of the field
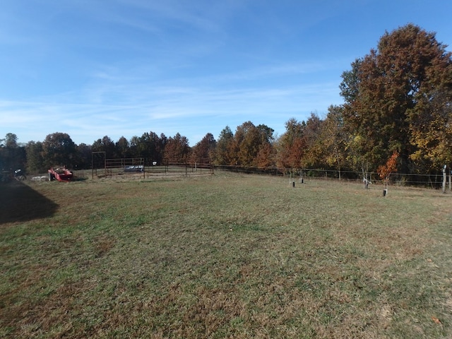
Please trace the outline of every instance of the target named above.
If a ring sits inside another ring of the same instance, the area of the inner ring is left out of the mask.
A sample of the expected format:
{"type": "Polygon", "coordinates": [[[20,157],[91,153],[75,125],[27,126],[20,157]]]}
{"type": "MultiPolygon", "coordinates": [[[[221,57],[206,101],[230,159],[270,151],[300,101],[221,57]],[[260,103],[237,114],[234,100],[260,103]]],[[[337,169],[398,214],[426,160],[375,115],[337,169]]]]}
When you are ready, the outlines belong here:
{"type": "Polygon", "coordinates": [[[225,126],[218,140],[207,133],[193,147],[179,133],[167,137],[153,131],[116,142],[104,136],[92,145],[76,145],[66,133],[18,145],[16,135],[8,133],[0,142],[0,167],[83,169],[90,168],[92,152],[105,152],[107,158],[157,163],[208,159],[215,165],[284,171],[359,170],[363,176],[392,159],[401,173],[436,172],[452,164],[452,59],[446,47],[434,32],[413,24],[385,32],[376,48],[343,72],[343,105],[331,105],[323,117],[289,119],[280,136],[251,121],[234,131],[225,126]]]}

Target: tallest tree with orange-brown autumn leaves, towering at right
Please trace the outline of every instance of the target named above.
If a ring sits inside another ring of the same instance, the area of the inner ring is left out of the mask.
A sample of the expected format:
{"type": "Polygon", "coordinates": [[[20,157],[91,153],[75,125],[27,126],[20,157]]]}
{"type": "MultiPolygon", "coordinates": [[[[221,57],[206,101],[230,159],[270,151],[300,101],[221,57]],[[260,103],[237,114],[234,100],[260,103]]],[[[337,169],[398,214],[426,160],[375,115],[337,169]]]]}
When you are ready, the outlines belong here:
{"type": "Polygon", "coordinates": [[[371,170],[394,150],[403,172],[451,160],[452,54],[445,47],[434,32],[408,24],[386,32],[343,73],[345,127],[366,141],[361,156],[371,170]]]}

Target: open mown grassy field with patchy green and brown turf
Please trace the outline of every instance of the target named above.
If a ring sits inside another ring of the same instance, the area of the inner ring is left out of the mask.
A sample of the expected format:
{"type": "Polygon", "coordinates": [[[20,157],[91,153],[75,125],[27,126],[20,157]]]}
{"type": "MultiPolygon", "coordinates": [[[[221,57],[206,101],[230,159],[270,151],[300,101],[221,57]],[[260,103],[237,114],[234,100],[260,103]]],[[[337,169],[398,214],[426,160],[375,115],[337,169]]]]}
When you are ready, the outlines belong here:
{"type": "Polygon", "coordinates": [[[217,173],[0,186],[2,338],[451,338],[452,194],[217,173]]]}

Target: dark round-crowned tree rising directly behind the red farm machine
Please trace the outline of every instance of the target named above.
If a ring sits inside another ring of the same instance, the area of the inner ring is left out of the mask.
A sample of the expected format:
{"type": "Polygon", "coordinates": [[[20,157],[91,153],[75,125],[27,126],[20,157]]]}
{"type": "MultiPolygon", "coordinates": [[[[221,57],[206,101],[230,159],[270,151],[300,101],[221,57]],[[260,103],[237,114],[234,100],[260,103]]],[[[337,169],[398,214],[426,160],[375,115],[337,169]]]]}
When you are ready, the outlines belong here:
{"type": "Polygon", "coordinates": [[[46,167],[72,167],[76,160],[76,144],[67,133],[52,133],[42,142],[42,157],[46,167]]]}

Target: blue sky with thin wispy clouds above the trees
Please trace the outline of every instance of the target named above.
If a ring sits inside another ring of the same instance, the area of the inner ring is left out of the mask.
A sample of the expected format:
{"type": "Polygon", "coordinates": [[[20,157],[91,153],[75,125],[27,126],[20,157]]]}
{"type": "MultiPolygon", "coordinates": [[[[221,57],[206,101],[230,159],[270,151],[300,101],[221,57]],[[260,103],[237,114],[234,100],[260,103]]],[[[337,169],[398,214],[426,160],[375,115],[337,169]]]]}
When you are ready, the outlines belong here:
{"type": "MultiPolygon", "coordinates": [[[[449,0],[4,0],[0,138],[218,138],[340,105],[343,71],[415,23],[452,46],[449,0]]],[[[452,50],[448,47],[447,50],[452,50]]]]}

